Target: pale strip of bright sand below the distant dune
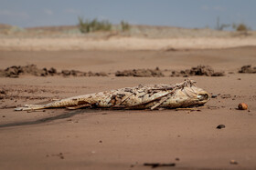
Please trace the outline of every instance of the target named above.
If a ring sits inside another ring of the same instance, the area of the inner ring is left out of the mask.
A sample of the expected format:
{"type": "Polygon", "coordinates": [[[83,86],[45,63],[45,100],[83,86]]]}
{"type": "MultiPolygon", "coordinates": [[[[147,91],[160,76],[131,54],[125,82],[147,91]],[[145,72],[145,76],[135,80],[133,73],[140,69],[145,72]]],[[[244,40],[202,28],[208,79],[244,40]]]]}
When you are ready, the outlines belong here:
{"type": "Polygon", "coordinates": [[[256,45],[256,38],[245,37],[41,37],[41,38],[1,38],[0,50],[59,51],[59,50],[177,50],[213,49],[256,45]]]}

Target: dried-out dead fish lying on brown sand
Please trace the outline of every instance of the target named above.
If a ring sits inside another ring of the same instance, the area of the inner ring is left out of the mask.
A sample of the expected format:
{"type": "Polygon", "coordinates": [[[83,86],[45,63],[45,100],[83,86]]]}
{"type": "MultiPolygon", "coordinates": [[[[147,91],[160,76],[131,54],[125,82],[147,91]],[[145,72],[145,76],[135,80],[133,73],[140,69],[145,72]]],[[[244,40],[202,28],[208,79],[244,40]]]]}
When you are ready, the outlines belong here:
{"type": "Polygon", "coordinates": [[[195,82],[185,80],[176,85],[138,85],[89,95],[79,95],[46,105],[24,105],[16,111],[37,110],[55,107],[78,109],[119,108],[119,109],[156,109],[180,108],[204,105],[209,99],[208,92],[198,88],[195,82]]]}

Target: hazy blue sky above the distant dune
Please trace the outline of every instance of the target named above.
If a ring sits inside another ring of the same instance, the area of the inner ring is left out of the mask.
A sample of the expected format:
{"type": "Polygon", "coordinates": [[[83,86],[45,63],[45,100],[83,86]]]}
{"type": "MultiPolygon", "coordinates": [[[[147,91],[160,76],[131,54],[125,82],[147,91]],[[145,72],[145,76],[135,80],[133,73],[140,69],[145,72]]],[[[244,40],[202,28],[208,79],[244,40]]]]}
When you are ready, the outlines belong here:
{"type": "Polygon", "coordinates": [[[256,29],[256,0],[0,0],[0,23],[21,27],[77,25],[78,17],[133,25],[256,29]]]}

